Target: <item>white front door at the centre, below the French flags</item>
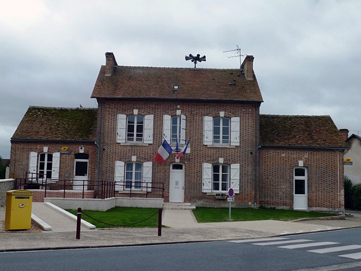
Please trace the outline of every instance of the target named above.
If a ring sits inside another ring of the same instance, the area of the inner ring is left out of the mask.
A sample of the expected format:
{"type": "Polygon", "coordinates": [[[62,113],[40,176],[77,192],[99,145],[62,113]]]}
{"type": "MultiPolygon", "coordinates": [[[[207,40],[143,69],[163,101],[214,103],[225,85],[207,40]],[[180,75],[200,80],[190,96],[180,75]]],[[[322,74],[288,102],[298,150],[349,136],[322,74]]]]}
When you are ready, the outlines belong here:
{"type": "Polygon", "coordinates": [[[169,202],[184,202],[184,165],[171,164],[169,202]]]}

